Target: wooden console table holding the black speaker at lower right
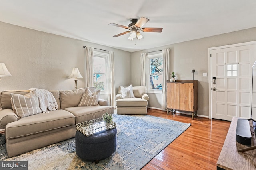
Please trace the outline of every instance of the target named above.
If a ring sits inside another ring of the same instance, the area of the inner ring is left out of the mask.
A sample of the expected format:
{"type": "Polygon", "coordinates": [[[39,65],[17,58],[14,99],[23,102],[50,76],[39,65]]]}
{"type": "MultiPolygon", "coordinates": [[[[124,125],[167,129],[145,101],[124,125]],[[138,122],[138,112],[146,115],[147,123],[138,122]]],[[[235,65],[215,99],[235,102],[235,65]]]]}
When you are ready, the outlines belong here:
{"type": "MultiPolygon", "coordinates": [[[[256,170],[256,149],[246,152],[237,151],[237,149],[246,148],[246,145],[236,142],[237,119],[238,118],[233,117],[230,124],[228,134],[217,161],[217,170],[256,170]]],[[[252,130],[251,121],[250,125],[252,130]]],[[[252,135],[252,137],[254,136],[252,135]]],[[[252,145],[256,145],[254,139],[252,139],[252,145]]]]}

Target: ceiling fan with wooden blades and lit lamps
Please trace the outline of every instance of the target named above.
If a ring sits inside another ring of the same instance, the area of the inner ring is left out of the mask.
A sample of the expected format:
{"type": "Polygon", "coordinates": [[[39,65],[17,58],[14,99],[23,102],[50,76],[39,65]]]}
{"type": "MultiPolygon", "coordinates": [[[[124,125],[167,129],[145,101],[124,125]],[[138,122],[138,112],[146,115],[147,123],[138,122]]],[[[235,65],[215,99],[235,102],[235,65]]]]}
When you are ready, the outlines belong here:
{"type": "Polygon", "coordinates": [[[142,28],[142,26],[145,25],[148,21],[149,21],[148,18],[141,17],[139,20],[137,18],[131,19],[131,23],[128,25],[128,27],[123,25],[118,25],[116,23],[110,23],[108,25],[121,27],[129,30],[129,31],[114,35],[113,37],[119,37],[120,35],[130,33],[130,36],[128,37],[128,39],[133,40],[134,38],[137,38],[138,40],[140,40],[143,38],[143,36],[140,34],[140,31],[156,32],[156,33],[162,32],[163,28],[142,28]]]}

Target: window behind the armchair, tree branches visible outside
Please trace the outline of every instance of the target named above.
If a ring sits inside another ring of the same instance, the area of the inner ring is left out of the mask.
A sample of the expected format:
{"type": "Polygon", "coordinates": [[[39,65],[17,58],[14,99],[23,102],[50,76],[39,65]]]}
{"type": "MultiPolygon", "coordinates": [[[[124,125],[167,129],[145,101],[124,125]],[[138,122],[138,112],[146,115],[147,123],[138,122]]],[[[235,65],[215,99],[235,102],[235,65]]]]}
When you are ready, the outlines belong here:
{"type": "Polygon", "coordinates": [[[162,53],[149,55],[150,73],[148,90],[162,90],[163,84],[163,57],[162,53]]]}

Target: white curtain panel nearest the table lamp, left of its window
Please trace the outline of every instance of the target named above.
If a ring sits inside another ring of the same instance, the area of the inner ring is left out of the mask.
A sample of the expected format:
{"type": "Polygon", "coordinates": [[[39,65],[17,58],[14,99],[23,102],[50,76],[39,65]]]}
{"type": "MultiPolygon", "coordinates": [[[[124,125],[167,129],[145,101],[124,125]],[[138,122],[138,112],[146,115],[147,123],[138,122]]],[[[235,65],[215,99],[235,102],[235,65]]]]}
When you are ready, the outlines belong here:
{"type": "Polygon", "coordinates": [[[86,55],[85,55],[85,86],[92,87],[93,86],[93,48],[86,47],[86,55]]]}

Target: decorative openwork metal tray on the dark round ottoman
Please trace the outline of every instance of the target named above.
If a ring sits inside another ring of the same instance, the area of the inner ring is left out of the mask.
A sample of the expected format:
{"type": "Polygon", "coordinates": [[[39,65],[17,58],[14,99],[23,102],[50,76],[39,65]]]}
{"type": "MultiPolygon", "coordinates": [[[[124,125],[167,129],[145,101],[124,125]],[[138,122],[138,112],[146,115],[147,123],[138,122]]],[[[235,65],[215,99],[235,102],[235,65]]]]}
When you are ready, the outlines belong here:
{"type": "Polygon", "coordinates": [[[116,128],[116,123],[113,121],[106,123],[102,120],[102,117],[76,124],[76,130],[87,137],[113,128],[116,128]]]}

